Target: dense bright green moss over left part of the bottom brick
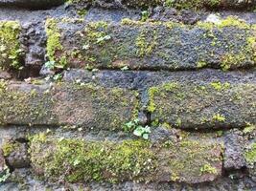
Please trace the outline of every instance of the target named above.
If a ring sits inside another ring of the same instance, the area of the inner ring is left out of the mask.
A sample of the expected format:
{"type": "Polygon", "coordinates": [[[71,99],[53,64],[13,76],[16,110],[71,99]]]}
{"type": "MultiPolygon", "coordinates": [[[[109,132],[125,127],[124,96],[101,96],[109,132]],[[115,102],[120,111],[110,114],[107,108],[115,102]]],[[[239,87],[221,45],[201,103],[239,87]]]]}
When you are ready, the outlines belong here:
{"type": "Polygon", "coordinates": [[[53,156],[35,158],[37,139],[32,140],[32,161],[45,168],[49,179],[62,177],[68,182],[144,180],[154,171],[155,157],[145,141],[85,142],[78,139],[54,140],[53,156]],[[37,163],[39,162],[39,163],[37,163]],[[64,170],[69,169],[69,170],[64,170]],[[64,171],[63,171],[64,170],[64,171]]]}

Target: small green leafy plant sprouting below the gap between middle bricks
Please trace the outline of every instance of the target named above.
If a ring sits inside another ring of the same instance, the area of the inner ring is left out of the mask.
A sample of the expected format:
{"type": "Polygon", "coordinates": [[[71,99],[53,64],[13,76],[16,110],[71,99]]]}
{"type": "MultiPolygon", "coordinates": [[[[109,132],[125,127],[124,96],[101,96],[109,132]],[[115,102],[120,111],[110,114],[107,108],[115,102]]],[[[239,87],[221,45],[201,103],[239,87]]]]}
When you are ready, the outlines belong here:
{"type": "Polygon", "coordinates": [[[148,125],[146,127],[143,127],[139,124],[139,119],[134,119],[126,123],[124,130],[126,132],[133,132],[134,136],[144,139],[149,139],[151,134],[151,127],[148,125]]]}

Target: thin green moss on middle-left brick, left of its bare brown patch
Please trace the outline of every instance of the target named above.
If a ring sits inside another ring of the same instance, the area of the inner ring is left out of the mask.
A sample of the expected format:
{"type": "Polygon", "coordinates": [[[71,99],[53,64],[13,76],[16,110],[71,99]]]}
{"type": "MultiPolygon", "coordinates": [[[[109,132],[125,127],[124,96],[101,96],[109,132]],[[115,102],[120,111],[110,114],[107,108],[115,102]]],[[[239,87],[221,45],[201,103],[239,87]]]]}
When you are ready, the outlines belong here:
{"type": "Polygon", "coordinates": [[[53,101],[49,95],[38,94],[35,89],[20,91],[7,82],[0,84],[0,124],[33,125],[45,122],[45,118],[56,119],[50,111],[53,101]]]}

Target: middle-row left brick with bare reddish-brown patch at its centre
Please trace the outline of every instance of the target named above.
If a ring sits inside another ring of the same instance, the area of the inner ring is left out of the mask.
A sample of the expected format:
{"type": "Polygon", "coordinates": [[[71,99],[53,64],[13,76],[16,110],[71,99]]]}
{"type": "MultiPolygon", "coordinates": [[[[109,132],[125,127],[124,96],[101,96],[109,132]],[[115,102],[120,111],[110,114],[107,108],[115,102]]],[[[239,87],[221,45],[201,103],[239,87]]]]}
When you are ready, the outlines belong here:
{"type": "Polygon", "coordinates": [[[1,124],[120,129],[137,115],[136,96],[135,91],[93,84],[58,83],[50,87],[2,82],[0,121],[1,124]]]}

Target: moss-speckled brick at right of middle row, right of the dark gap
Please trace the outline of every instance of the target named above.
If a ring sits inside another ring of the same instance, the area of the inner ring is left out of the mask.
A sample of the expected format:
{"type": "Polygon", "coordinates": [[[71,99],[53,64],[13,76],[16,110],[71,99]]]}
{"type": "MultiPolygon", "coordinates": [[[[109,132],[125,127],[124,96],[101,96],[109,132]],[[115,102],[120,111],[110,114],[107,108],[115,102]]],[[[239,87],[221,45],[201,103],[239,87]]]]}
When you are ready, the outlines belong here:
{"type": "Polygon", "coordinates": [[[243,127],[256,122],[255,83],[170,81],[149,89],[151,120],[182,128],[243,127]]]}

